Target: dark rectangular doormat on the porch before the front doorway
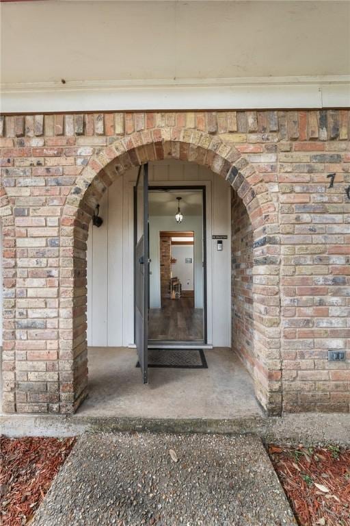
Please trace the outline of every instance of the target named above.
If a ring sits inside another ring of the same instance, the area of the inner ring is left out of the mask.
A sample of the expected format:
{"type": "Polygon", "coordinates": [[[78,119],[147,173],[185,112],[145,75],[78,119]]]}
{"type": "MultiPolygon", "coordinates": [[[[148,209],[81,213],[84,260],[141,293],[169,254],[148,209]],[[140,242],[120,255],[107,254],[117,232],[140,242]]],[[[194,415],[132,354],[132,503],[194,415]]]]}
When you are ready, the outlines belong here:
{"type": "Polygon", "coordinates": [[[208,365],[203,349],[148,349],[148,367],[207,369],[208,365]]]}

